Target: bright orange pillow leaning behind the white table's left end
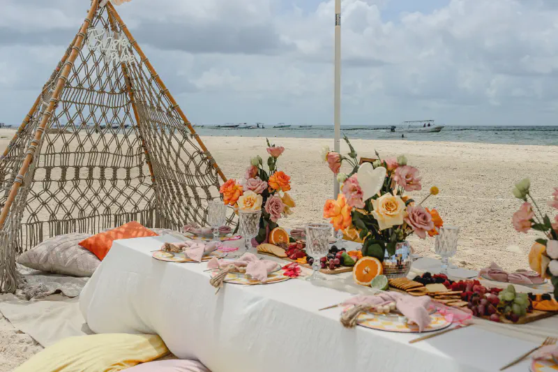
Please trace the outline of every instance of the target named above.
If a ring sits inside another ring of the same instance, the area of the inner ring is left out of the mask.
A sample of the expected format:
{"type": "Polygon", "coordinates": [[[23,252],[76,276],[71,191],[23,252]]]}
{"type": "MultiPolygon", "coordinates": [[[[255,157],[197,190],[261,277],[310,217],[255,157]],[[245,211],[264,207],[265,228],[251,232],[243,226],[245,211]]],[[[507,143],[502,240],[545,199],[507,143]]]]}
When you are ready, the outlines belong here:
{"type": "Polygon", "coordinates": [[[82,240],[80,241],[80,246],[84,247],[86,250],[96,255],[99,260],[103,261],[103,258],[105,258],[107,253],[109,253],[114,240],[157,236],[158,235],[155,232],[149,230],[148,228],[144,228],[143,225],[137,223],[136,221],[132,221],[121,225],[119,228],[106,232],[100,232],[97,235],[93,235],[92,237],[82,240]]]}

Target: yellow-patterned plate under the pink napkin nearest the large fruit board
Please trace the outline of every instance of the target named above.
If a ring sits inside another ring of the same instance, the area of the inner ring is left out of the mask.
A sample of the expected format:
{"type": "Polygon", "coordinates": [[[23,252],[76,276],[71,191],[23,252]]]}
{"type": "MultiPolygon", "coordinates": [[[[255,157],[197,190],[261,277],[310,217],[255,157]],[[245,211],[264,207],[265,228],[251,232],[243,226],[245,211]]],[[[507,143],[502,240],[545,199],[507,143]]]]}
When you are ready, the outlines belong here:
{"type": "MultiPolygon", "coordinates": [[[[372,314],[363,313],[359,315],[359,325],[378,329],[379,331],[400,332],[400,333],[419,333],[417,325],[407,325],[405,317],[396,314],[372,314]]],[[[451,325],[444,315],[440,313],[430,314],[430,325],[423,332],[439,331],[451,325]]]]}

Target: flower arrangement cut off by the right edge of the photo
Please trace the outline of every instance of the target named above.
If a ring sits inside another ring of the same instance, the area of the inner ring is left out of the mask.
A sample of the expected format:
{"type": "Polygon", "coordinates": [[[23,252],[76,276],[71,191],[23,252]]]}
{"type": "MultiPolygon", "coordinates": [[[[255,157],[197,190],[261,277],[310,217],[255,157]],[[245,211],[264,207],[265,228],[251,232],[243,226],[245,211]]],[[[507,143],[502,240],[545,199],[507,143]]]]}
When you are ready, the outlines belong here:
{"type": "MultiPolygon", "coordinates": [[[[531,181],[528,178],[522,179],[513,187],[515,198],[523,200],[520,209],[513,214],[513,227],[525,234],[533,229],[545,235],[545,239],[536,239],[531,246],[529,266],[543,278],[550,278],[554,285],[554,296],[558,298],[558,215],[555,216],[554,222],[550,221],[548,214],[543,215],[529,192],[530,187],[531,181]],[[532,204],[527,200],[531,200],[532,204]],[[533,206],[538,214],[533,210],[533,206]]],[[[558,209],[558,187],[554,188],[552,200],[548,205],[558,209]]]]}

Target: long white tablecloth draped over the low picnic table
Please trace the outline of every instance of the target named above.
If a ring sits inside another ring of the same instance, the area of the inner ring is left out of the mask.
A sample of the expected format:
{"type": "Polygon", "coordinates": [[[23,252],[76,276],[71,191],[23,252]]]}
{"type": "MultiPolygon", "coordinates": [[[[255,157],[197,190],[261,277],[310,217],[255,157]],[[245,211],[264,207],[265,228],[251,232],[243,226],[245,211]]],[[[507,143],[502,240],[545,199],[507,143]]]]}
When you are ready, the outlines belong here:
{"type": "MultiPolygon", "coordinates": [[[[176,356],[213,372],[498,371],[536,345],[477,326],[411,345],[416,334],[345,329],[339,308],[317,310],[351,295],[301,279],[225,284],[215,295],[205,263],[151,258],[163,241],[176,238],[114,242],[80,295],[93,332],[159,334],[176,356]]],[[[352,279],[343,277],[339,287],[348,288],[352,279]]]]}

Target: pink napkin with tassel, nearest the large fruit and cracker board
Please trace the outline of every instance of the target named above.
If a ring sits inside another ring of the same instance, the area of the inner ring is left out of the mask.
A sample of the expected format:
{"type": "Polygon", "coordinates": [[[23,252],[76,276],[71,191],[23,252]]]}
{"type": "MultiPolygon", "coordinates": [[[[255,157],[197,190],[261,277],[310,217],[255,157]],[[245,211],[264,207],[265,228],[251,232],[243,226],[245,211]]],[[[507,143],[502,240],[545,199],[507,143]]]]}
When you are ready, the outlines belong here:
{"type": "Polygon", "coordinates": [[[418,325],[418,330],[423,332],[423,330],[430,325],[430,315],[428,314],[428,307],[430,306],[431,300],[428,296],[414,297],[411,295],[405,295],[405,293],[398,292],[382,292],[379,295],[365,296],[359,295],[347,299],[342,302],[342,306],[347,305],[385,305],[390,302],[395,302],[398,310],[405,315],[405,317],[410,321],[418,325]]]}

